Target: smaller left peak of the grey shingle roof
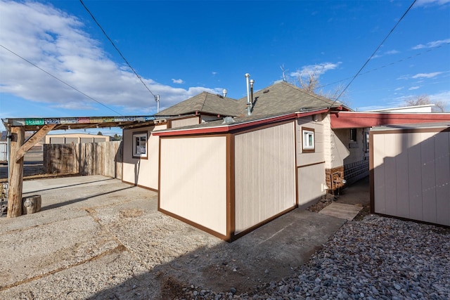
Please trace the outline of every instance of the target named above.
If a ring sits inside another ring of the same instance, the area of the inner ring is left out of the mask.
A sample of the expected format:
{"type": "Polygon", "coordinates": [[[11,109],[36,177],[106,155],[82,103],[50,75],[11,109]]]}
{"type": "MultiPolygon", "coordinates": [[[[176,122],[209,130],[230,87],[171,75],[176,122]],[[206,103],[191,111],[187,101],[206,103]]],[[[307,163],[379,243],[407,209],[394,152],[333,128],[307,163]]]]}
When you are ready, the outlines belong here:
{"type": "Polygon", "coordinates": [[[173,105],[162,112],[158,112],[157,116],[178,116],[189,115],[195,112],[210,113],[222,116],[238,115],[239,104],[237,100],[232,98],[214,95],[212,93],[203,92],[192,98],[188,98],[183,102],[173,105]]]}

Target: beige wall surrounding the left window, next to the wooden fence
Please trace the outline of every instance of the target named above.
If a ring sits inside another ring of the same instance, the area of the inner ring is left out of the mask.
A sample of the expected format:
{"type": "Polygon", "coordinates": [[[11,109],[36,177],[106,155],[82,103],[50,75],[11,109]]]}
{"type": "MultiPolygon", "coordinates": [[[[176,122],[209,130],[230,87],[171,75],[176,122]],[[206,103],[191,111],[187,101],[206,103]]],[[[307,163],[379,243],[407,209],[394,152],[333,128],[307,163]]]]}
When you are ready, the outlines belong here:
{"type": "Polygon", "coordinates": [[[166,127],[166,125],[157,125],[138,129],[124,129],[123,181],[158,190],[159,136],[153,136],[151,132],[166,127]],[[134,158],[132,152],[133,133],[143,131],[148,132],[148,157],[147,159],[134,158]]]}

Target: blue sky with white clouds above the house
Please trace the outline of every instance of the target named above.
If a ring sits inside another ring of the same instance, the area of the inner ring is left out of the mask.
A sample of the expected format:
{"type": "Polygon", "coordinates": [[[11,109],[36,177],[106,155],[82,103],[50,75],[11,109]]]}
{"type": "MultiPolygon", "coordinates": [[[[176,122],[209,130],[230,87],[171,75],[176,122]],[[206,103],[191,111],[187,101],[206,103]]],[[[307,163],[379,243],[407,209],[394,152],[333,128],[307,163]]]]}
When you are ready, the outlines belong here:
{"type": "Polygon", "coordinates": [[[242,98],[245,73],[258,91],[312,72],[359,111],[421,95],[450,111],[450,0],[411,4],[0,0],[0,118],[153,115],[155,95],[242,98]]]}

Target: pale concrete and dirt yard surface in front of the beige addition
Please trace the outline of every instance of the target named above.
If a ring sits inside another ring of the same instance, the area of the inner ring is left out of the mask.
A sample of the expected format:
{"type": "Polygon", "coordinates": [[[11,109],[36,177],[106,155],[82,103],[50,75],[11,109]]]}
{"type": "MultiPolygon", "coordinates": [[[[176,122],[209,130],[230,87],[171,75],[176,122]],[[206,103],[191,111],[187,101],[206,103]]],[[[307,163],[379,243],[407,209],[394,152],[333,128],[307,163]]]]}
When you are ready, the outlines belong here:
{"type": "Polygon", "coordinates": [[[39,213],[0,219],[0,299],[173,299],[191,286],[251,294],[291,275],[345,223],[295,209],[228,243],[113,178],[25,181],[24,196],[37,194],[39,213]]]}

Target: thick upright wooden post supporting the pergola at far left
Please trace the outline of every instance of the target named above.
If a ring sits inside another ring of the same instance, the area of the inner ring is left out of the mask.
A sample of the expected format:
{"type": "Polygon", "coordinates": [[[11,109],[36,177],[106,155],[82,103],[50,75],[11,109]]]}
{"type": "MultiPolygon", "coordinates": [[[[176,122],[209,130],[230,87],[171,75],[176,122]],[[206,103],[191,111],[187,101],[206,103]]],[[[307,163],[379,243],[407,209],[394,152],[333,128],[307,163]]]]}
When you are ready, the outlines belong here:
{"type": "Polygon", "coordinates": [[[23,126],[11,128],[11,159],[9,160],[9,190],[7,218],[22,215],[22,183],[23,183],[23,155],[20,159],[18,150],[25,141],[25,129],[23,126]]]}

